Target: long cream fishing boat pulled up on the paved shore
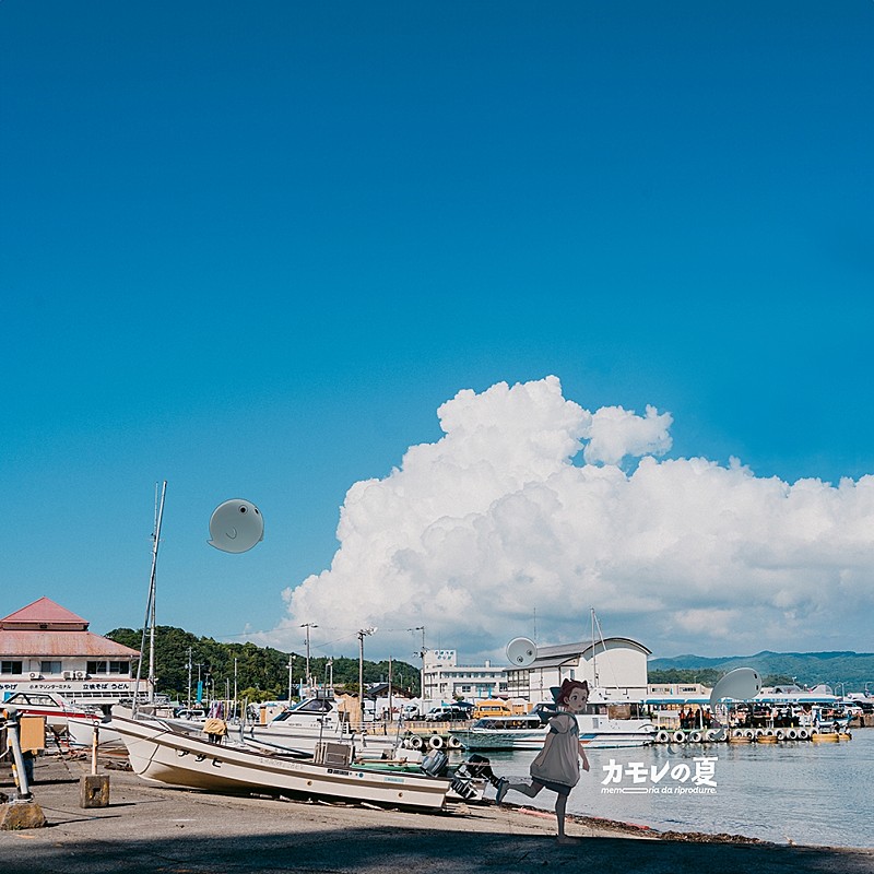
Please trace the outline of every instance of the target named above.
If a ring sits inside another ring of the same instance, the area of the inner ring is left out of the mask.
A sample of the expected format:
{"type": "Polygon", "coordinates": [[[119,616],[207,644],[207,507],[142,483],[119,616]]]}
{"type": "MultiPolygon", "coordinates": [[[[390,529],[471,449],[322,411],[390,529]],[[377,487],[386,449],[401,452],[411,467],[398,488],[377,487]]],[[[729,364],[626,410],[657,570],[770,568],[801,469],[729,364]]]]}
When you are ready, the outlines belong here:
{"type": "Polygon", "coordinates": [[[268,754],[174,731],[157,719],[114,712],[109,723],[128,748],[131,768],[162,783],[217,792],[274,792],[351,802],[440,810],[450,780],[418,773],[357,767],[343,749],[320,748],[321,760],[268,754]]]}

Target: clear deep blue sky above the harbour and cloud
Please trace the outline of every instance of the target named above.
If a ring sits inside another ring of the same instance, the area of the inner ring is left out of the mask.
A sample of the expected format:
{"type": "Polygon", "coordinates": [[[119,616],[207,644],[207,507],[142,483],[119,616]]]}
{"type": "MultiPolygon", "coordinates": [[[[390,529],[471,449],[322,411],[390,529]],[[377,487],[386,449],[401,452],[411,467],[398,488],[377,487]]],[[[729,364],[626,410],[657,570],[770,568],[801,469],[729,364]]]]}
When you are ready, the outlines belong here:
{"type": "MultiPolygon", "coordinates": [[[[5,0],[0,613],[141,623],[166,479],[160,621],[273,629],[347,489],[501,381],[669,412],[673,459],[874,473],[872,38],[862,0],[5,0]]],[[[871,649],[825,621],[796,648],[871,649]]]]}

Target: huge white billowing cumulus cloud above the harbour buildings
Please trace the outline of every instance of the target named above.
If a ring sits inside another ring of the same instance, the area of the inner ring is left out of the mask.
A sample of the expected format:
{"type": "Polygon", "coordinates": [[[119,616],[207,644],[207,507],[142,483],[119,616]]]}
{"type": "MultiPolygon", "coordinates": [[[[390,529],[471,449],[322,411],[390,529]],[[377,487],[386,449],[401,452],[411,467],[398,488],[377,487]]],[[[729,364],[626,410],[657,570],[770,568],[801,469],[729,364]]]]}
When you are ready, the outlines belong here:
{"type": "Polygon", "coordinates": [[[733,654],[834,649],[871,615],[873,476],[790,485],[666,459],[669,413],[592,413],[554,376],[437,413],[439,440],[349,489],[331,567],[283,592],[265,639],[424,625],[470,662],[531,636],[535,611],[539,642],[586,639],[594,606],[605,635],[656,654],[733,654]]]}

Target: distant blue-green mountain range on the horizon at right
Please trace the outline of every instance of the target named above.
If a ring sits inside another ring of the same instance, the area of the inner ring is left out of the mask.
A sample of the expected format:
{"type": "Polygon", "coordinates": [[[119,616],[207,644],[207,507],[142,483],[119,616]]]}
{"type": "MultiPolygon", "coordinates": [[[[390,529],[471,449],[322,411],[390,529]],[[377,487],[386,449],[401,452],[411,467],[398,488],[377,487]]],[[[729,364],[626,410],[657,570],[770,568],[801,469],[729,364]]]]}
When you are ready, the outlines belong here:
{"type": "MultiPolygon", "coordinates": [[[[838,692],[862,692],[869,684],[874,693],[874,653],[872,652],[770,652],[764,650],[755,656],[675,656],[671,659],[650,659],[647,663],[650,676],[668,671],[717,671],[720,674],[734,668],[754,668],[763,677],[781,676],[783,682],[793,677],[800,685],[815,686],[825,683],[834,688],[843,683],[838,692]]],[[[650,680],[652,683],[653,680],[650,680]]]]}

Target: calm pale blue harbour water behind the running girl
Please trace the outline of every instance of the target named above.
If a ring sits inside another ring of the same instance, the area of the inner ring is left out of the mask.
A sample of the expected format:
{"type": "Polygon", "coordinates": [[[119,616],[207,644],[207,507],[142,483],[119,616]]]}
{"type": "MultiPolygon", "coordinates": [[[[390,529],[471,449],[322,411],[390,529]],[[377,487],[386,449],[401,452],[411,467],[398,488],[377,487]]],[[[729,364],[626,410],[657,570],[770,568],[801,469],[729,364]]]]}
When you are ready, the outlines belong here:
{"type": "MultiPolygon", "coordinates": [[[[858,729],[852,734],[852,741],[845,743],[590,749],[591,770],[582,772],[571,792],[568,812],[647,825],[660,831],[729,832],[777,843],[874,847],[874,729],[858,729]],[[716,761],[695,761],[702,756],[716,757],[716,761]],[[634,773],[638,775],[637,782],[634,773]],[[611,776],[613,781],[604,786],[611,776]],[[612,791],[604,791],[607,789],[612,791]],[[709,792],[701,792],[705,789],[709,792]]],[[[488,757],[495,773],[527,779],[534,755],[492,753],[488,757]]],[[[555,795],[544,789],[529,800],[509,792],[507,801],[552,810],[555,795]]]]}

